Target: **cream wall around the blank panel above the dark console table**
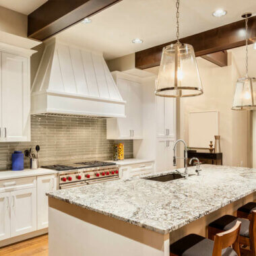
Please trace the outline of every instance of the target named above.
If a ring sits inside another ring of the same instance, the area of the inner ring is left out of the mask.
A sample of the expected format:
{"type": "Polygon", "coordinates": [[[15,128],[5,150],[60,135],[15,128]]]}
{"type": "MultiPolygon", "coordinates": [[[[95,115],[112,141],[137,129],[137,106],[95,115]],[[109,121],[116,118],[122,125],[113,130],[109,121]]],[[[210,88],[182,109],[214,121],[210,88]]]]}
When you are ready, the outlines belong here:
{"type": "Polygon", "coordinates": [[[219,135],[223,164],[248,166],[248,113],[231,110],[238,69],[229,55],[227,67],[218,67],[197,58],[203,84],[203,95],[180,100],[180,136],[189,141],[189,113],[201,110],[218,110],[219,135]]]}

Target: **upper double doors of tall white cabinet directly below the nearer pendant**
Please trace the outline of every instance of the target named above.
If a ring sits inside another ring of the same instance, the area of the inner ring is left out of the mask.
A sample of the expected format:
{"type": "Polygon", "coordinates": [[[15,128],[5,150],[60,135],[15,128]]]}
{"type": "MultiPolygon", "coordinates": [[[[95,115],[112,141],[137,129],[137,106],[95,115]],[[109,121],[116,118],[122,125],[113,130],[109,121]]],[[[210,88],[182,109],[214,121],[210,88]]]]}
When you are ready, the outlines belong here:
{"type": "Polygon", "coordinates": [[[176,137],[176,99],[156,96],[156,137],[176,137]]]}

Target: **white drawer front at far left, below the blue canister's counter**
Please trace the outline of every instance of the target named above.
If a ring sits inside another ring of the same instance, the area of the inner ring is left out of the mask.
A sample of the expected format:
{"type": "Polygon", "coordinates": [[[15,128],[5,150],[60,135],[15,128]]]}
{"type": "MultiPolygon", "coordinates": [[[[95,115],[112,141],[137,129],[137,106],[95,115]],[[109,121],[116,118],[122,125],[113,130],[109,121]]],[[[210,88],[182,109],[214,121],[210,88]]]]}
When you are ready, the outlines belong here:
{"type": "Polygon", "coordinates": [[[30,189],[36,187],[36,177],[26,177],[20,179],[8,179],[0,181],[0,192],[8,192],[19,189],[30,189]]]}

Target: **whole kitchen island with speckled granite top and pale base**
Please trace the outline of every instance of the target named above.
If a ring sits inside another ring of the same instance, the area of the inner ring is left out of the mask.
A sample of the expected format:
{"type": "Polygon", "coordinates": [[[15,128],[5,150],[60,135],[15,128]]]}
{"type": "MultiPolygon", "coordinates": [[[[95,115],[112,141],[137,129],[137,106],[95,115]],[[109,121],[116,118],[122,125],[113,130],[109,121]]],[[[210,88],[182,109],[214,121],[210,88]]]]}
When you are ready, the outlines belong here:
{"type": "Polygon", "coordinates": [[[170,243],[205,236],[207,224],[253,201],[255,191],[255,169],[212,165],[165,183],[135,178],[55,191],[49,255],[167,256],[170,243]]]}

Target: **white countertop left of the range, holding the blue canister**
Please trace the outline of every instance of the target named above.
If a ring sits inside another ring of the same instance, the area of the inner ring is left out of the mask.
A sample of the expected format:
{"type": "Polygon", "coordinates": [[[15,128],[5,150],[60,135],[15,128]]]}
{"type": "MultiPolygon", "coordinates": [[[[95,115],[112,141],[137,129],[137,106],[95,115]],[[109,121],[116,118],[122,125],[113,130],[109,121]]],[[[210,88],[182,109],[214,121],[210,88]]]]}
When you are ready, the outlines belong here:
{"type": "Polygon", "coordinates": [[[40,176],[47,174],[55,174],[56,170],[38,168],[36,170],[24,169],[24,170],[0,170],[0,181],[7,179],[17,179],[23,177],[40,176]]]}

